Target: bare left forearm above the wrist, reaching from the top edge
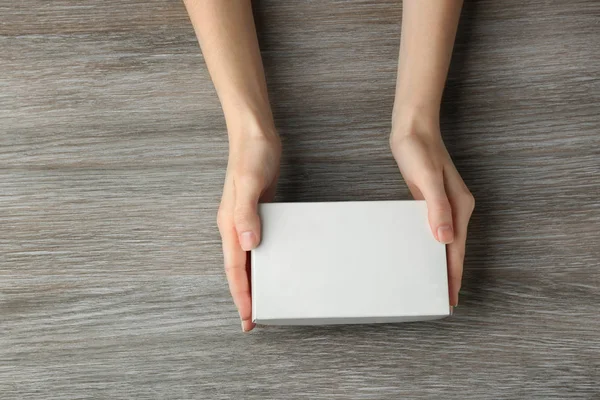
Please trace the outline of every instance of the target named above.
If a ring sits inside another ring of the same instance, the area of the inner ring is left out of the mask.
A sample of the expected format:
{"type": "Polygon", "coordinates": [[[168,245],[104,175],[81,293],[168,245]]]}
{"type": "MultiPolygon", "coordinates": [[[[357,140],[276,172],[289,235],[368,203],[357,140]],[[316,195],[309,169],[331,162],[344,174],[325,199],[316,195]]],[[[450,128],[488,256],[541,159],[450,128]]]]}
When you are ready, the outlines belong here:
{"type": "Polygon", "coordinates": [[[274,134],[250,0],[184,0],[231,135],[274,134]]]}

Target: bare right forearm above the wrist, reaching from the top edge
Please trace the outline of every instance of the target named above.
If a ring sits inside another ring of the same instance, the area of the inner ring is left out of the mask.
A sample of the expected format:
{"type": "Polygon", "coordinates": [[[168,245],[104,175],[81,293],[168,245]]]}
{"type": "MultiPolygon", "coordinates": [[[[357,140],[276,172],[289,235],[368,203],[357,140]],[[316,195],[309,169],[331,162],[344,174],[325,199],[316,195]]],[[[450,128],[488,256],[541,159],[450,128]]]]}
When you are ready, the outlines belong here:
{"type": "Polygon", "coordinates": [[[393,123],[439,117],[462,0],[404,0],[393,123]]]}

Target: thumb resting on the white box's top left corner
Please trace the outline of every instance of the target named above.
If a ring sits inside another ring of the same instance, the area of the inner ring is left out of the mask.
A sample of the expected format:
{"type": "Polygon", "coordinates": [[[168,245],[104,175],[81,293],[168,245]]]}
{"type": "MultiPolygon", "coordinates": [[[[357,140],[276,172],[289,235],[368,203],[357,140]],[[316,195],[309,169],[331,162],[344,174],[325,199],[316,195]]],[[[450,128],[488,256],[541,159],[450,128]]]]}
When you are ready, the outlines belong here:
{"type": "Polygon", "coordinates": [[[235,207],[233,220],[240,246],[250,251],[260,242],[260,218],[258,217],[258,199],[262,192],[260,180],[245,177],[234,180],[235,207]]]}

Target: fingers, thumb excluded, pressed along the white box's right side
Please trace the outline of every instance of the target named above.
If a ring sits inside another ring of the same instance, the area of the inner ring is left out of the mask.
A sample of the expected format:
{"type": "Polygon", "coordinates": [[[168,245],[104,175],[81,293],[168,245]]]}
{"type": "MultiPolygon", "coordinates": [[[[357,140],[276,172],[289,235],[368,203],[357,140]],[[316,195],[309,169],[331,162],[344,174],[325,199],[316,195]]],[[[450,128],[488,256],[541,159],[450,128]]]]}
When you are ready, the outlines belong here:
{"type": "Polygon", "coordinates": [[[448,245],[447,250],[450,304],[456,306],[458,305],[458,293],[463,275],[467,228],[475,202],[458,171],[453,168],[445,171],[444,179],[446,180],[448,195],[454,213],[455,237],[454,242],[448,245]]]}

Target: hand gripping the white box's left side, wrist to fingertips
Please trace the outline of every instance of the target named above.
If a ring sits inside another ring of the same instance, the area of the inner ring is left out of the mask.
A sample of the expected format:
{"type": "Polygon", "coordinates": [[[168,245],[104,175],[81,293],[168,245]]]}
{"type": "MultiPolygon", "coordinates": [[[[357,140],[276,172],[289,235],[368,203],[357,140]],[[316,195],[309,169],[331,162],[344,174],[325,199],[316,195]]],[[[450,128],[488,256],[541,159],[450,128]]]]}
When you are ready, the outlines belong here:
{"type": "Polygon", "coordinates": [[[274,132],[230,134],[229,161],[217,216],[225,272],[244,332],[254,328],[248,251],[260,243],[258,203],[273,199],[279,177],[281,142],[274,132]]]}

